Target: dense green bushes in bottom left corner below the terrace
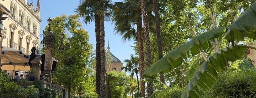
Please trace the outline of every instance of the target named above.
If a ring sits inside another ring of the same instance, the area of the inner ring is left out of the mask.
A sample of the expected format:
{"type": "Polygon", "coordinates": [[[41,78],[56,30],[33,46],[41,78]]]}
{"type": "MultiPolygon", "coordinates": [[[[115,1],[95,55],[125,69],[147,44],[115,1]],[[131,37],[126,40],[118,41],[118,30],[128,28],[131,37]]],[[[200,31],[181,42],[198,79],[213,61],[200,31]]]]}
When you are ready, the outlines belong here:
{"type": "Polygon", "coordinates": [[[23,88],[16,82],[6,82],[5,76],[0,75],[0,98],[56,98],[56,95],[54,90],[42,88],[40,81],[23,88]]]}

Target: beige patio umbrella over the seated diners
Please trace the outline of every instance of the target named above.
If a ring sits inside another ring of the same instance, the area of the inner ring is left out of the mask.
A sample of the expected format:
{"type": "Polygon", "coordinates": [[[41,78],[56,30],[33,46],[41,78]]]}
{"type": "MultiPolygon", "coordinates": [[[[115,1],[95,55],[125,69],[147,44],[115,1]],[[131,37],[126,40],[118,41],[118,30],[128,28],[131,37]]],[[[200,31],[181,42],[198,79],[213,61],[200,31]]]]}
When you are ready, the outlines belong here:
{"type": "Polygon", "coordinates": [[[2,65],[26,65],[29,61],[29,56],[19,50],[3,46],[1,54],[2,65]]]}

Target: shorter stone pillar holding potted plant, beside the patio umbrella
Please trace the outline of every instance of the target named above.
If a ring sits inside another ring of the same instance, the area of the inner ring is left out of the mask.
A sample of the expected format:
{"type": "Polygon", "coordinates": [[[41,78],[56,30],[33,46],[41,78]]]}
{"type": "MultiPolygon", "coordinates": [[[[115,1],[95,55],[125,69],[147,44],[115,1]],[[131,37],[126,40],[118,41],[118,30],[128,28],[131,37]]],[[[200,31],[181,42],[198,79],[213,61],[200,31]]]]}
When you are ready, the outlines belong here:
{"type": "Polygon", "coordinates": [[[32,64],[31,69],[33,69],[33,71],[34,71],[33,75],[36,76],[36,80],[40,80],[40,75],[41,75],[40,69],[41,69],[41,64],[42,64],[41,60],[34,59],[31,61],[31,64],[32,64]]]}

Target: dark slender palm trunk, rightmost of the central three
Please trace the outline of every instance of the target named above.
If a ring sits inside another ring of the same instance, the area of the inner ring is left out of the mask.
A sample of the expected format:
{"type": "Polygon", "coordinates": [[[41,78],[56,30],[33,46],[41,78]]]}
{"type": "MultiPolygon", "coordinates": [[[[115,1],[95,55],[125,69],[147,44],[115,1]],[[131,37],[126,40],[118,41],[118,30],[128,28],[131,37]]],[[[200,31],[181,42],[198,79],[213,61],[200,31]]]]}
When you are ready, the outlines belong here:
{"type": "MultiPolygon", "coordinates": [[[[163,45],[161,38],[161,29],[160,29],[160,17],[158,12],[158,3],[157,0],[153,0],[155,22],[156,22],[156,35],[157,35],[157,48],[158,48],[158,59],[163,58],[163,45]]],[[[160,73],[160,81],[165,84],[164,74],[160,73]]]]}

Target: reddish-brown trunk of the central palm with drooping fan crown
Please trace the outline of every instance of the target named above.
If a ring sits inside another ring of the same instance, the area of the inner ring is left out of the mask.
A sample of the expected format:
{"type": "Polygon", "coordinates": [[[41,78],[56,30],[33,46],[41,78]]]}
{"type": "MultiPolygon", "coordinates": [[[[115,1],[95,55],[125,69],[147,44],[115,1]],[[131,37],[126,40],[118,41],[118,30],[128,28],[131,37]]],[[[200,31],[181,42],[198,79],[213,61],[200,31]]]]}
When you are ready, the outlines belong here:
{"type": "Polygon", "coordinates": [[[143,52],[143,40],[142,40],[142,22],[141,19],[137,20],[137,39],[139,45],[139,58],[140,58],[140,86],[141,86],[141,97],[145,97],[145,82],[143,81],[144,76],[144,52],[143,52]]]}

